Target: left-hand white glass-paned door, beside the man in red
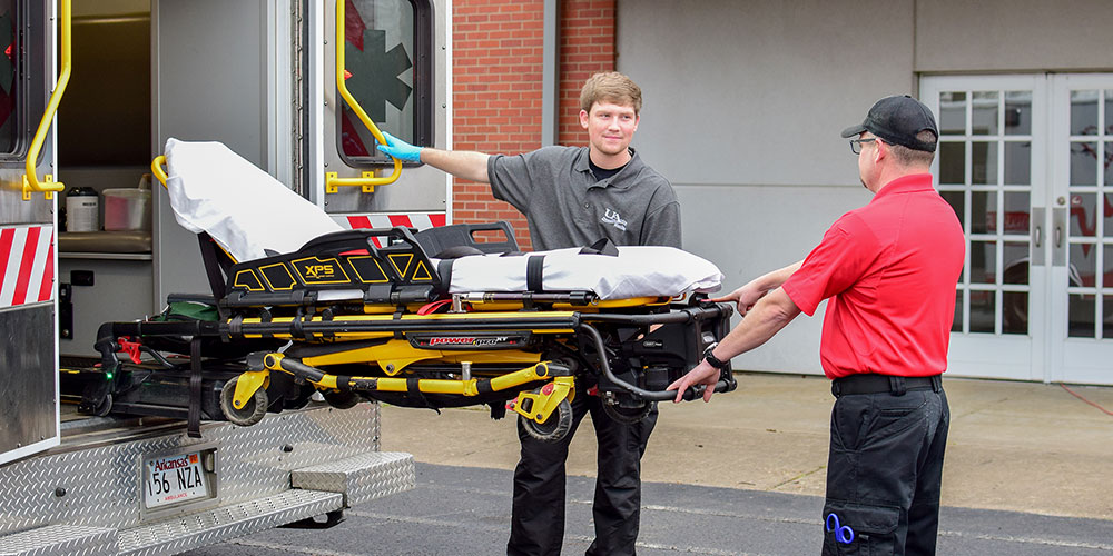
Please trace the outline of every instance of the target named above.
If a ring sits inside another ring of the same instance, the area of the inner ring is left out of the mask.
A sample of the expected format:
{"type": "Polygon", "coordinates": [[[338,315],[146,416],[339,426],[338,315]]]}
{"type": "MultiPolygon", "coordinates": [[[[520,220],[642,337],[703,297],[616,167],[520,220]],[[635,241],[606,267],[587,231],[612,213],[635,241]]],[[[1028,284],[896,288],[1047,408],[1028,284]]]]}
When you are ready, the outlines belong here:
{"type": "Polygon", "coordinates": [[[1047,238],[1043,76],[925,77],[939,193],[966,236],[948,373],[1042,379],[1047,238]]]}

